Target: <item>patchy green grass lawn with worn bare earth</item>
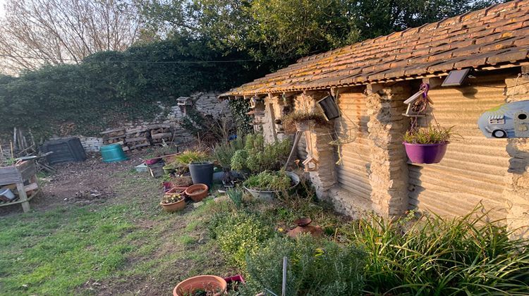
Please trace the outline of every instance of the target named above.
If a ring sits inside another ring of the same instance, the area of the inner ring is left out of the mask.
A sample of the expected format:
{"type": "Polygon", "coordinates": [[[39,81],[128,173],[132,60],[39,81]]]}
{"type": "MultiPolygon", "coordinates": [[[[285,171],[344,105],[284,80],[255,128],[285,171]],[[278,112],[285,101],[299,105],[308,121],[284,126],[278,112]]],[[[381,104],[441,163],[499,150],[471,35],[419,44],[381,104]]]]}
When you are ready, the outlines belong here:
{"type": "Polygon", "coordinates": [[[164,294],[199,273],[229,275],[202,209],[159,207],[158,180],[115,173],[117,197],[0,218],[2,295],[164,294]],[[199,242],[199,240],[202,240],[199,242]]]}

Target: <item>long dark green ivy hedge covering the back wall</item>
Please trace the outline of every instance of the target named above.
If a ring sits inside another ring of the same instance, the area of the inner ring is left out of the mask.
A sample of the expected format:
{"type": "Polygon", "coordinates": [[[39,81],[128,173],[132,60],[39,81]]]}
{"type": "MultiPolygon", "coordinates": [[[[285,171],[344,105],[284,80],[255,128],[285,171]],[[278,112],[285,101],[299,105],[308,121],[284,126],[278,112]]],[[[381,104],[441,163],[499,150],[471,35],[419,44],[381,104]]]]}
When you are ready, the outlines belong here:
{"type": "Polygon", "coordinates": [[[227,90],[260,75],[247,70],[248,63],[196,62],[240,58],[235,51],[209,48],[207,40],[174,37],[99,52],[79,65],[0,76],[0,134],[18,127],[31,129],[37,139],[52,133],[99,135],[123,121],[152,120],[168,112],[176,97],[227,90]]]}

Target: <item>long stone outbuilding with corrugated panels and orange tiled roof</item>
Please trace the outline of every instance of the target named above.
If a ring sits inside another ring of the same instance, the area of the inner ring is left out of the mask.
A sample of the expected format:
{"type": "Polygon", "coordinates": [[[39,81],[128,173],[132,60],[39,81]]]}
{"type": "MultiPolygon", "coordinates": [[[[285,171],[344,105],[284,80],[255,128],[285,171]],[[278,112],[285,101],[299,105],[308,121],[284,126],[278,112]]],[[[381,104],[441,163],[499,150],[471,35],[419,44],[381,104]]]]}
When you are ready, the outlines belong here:
{"type": "Polygon", "coordinates": [[[528,33],[529,1],[511,1],[300,58],[220,97],[261,101],[256,121],[273,141],[286,136],[276,124],[286,106],[317,110],[332,94],[341,117],[334,128],[312,128],[300,157],[317,159],[309,173],[317,194],[345,214],[459,216],[482,205],[528,235],[529,141],[487,139],[477,125],[484,111],[529,99],[528,33]],[[463,85],[441,87],[450,71],[465,68],[472,72],[463,85]],[[461,135],[439,164],[411,164],[402,144],[410,124],[403,101],[423,82],[437,122],[461,135]],[[332,133],[355,140],[336,148],[332,133]]]}

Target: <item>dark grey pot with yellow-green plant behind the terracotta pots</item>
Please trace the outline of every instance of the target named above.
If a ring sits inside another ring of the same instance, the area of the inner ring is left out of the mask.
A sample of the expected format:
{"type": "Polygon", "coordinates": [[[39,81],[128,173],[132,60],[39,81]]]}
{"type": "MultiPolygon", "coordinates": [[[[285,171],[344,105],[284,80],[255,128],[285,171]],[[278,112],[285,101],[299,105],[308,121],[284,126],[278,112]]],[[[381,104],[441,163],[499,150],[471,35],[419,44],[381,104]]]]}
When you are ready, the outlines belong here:
{"type": "Polygon", "coordinates": [[[213,183],[213,163],[205,152],[186,151],[176,156],[179,164],[186,164],[191,173],[193,184],[205,184],[211,187],[213,183]]]}

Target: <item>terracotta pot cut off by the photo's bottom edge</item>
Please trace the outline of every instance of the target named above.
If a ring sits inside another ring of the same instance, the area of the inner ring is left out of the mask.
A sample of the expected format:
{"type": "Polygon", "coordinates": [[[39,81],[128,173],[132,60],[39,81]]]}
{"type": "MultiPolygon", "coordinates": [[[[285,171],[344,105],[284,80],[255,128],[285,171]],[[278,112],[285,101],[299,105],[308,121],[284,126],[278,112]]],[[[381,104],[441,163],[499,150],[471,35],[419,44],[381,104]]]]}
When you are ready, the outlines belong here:
{"type": "Polygon", "coordinates": [[[214,296],[220,296],[226,293],[226,288],[228,283],[219,276],[193,276],[178,283],[173,289],[173,296],[193,295],[197,290],[214,292],[214,296]]]}

